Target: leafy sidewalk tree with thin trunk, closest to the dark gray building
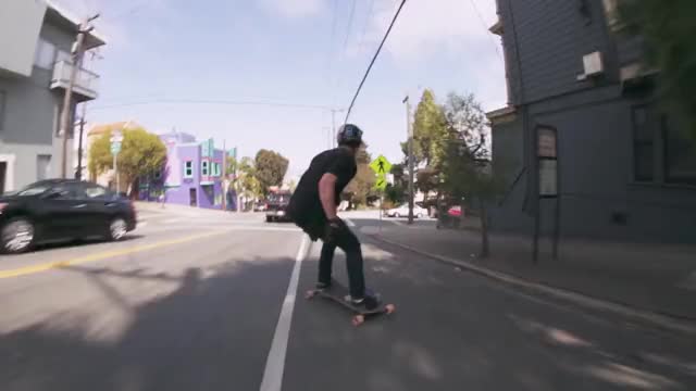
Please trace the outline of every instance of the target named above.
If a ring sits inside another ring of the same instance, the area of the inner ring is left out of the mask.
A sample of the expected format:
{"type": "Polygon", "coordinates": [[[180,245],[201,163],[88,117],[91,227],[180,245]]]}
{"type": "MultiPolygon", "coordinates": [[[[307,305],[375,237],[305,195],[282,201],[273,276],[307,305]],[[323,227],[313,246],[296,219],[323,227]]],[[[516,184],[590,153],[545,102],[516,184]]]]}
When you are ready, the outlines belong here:
{"type": "Polygon", "coordinates": [[[473,94],[450,93],[444,108],[449,133],[453,136],[446,148],[442,186],[450,197],[471,204],[475,200],[481,218],[481,257],[489,254],[487,203],[501,191],[502,173],[492,172],[486,147],[488,126],[485,113],[473,94]]]}

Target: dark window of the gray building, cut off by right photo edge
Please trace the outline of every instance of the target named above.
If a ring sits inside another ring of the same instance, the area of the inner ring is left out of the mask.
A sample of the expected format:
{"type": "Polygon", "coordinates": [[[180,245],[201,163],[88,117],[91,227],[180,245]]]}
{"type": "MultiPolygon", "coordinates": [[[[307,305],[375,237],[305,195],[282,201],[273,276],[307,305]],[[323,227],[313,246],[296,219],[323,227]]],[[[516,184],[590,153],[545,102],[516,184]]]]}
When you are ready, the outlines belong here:
{"type": "Polygon", "coordinates": [[[691,141],[674,121],[662,118],[664,142],[664,181],[696,185],[696,143],[691,141]]]}

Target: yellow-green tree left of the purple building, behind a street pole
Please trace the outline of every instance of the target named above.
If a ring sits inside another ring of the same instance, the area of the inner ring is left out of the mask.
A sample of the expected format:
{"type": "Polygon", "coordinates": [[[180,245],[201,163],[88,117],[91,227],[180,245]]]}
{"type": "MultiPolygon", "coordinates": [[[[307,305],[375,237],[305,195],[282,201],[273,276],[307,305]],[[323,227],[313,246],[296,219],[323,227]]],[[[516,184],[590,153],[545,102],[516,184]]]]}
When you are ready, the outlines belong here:
{"type": "MultiPolygon", "coordinates": [[[[166,160],[166,147],[157,135],[142,128],[123,131],[123,142],[117,157],[119,176],[130,186],[130,195],[138,191],[140,177],[162,169],[166,160]]],[[[89,172],[97,176],[111,169],[111,131],[99,137],[89,148],[89,172]]]]}

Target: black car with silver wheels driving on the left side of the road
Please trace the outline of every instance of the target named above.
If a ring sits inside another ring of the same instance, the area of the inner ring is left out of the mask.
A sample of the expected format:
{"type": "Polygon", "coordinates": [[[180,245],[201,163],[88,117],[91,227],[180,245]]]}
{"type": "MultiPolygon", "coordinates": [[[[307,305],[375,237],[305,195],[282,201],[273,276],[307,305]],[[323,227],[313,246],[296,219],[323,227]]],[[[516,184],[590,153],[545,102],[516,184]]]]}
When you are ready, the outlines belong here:
{"type": "Polygon", "coordinates": [[[135,227],[133,203],[92,182],[49,179],[0,195],[0,251],[4,253],[21,253],[49,241],[120,240],[135,227]]]}

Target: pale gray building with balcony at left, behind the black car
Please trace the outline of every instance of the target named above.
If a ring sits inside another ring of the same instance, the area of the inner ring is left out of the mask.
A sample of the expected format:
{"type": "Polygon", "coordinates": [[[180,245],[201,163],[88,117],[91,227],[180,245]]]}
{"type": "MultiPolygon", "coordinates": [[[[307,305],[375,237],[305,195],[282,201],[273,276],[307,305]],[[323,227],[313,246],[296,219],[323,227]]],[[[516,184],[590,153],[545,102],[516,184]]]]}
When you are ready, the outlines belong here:
{"type": "MultiPolygon", "coordinates": [[[[60,175],[59,124],[78,27],[79,20],[47,0],[0,2],[0,192],[60,175]]],[[[102,45],[96,33],[86,35],[87,50],[102,45]]],[[[97,98],[99,80],[78,66],[69,108],[73,118],[77,103],[97,98]]]]}

